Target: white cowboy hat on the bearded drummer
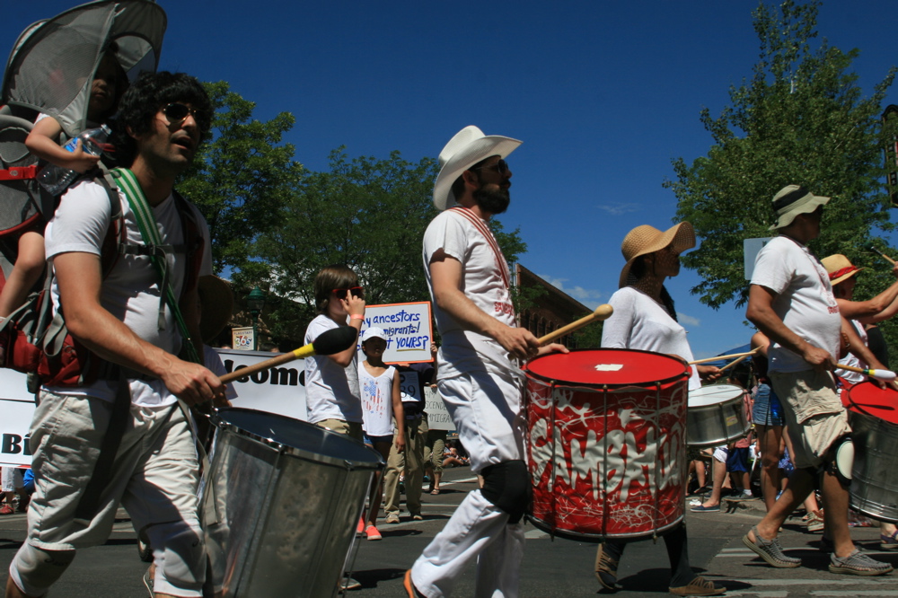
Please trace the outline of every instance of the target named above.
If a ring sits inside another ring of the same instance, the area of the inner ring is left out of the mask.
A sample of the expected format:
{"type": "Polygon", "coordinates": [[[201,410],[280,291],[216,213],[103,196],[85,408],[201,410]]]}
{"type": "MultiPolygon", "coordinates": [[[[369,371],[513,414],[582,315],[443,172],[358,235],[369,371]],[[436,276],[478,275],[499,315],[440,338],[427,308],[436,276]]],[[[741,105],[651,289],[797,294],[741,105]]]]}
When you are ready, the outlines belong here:
{"type": "Polygon", "coordinates": [[[506,158],[517,149],[522,142],[511,137],[500,135],[483,135],[479,128],[469,125],[455,134],[440,152],[440,173],[434,183],[434,206],[438,210],[453,207],[455,197],[452,185],[468,170],[481,160],[497,155],[506,158]]]}

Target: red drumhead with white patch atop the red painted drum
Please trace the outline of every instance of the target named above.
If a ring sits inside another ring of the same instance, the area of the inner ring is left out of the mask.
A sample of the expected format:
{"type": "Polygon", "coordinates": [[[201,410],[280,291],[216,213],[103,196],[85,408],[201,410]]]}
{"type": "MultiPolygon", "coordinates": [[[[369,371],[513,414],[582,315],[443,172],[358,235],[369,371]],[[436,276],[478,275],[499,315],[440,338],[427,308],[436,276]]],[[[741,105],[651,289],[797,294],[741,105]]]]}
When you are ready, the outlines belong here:
{"type": "Polygon", "coordinates": [[[528,375],[580,386],[645,386],[688,378],[687,366],[671,356],[636,349],[574,349],[529,362],[528,375]]]}

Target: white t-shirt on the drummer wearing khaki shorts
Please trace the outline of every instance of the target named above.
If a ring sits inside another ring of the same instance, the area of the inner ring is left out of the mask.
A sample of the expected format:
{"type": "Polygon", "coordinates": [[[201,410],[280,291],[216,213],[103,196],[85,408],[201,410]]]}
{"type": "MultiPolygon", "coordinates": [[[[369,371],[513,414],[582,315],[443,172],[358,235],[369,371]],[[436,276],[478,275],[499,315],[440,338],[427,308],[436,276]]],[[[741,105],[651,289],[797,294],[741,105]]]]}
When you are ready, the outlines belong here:
{"type": "MultiPolygon", "coordinates": [[[[807,248],[788,237],[775,237],[754,261],[752,284],[777,294],[773,311],[789,330],[814,347],[839,356],[841,316],[829,275],[807,248]]],[[[768,372],[813,369],[801,356],[779,343],[770,345],[768,372]]]]}

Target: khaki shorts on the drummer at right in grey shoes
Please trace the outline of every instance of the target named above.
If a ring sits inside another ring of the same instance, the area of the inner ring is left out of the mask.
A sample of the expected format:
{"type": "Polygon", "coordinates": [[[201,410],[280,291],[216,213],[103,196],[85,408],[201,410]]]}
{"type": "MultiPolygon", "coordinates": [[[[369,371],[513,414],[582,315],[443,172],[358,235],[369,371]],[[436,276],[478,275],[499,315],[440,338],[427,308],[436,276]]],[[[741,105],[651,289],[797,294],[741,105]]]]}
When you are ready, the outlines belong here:
{"type": "Polygon", "coordinates": [[[782,402],[796,469],[819,466],[832,444],[851,433],[832,374],[775,372],[770,373],[770,382],[782,402]]]}

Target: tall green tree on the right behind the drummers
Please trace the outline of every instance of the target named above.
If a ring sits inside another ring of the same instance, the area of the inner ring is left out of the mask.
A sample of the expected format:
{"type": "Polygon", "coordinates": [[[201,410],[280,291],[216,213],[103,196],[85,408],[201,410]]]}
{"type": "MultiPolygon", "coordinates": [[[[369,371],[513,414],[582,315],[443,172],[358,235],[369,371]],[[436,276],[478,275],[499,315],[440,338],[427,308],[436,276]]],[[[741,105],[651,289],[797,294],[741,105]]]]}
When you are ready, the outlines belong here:
{"type": "MultiPolygon", "coordinates": [[[[842,52],[817,37],[819,2],[786,0],[778,7],[760,4],[753,12],[761,40],[761,59],[750,81],[730,88],[732,102],[700,119],[713,138],[707,156],[687,164],[674,161],[676,180],[665,181],[678,199],[677,220],[688,220],[701,247],[684,256],[701,282],[691,289],[700,301],[718,308],[747,300],[743,240],[772,236],[771,201],[785,185],[803,185],[832,198],[823,212],[823,234],[811,244],[820,257],[843,253],[869,264],[864,250],[876,234],[893,229],[881,177],[886,135],[879,120],[894,68],[863,97],[850,71],[857,49],[842,52]]],[[[858,295],[871,295],[885,283],[868,277],[858,295]]]]}

